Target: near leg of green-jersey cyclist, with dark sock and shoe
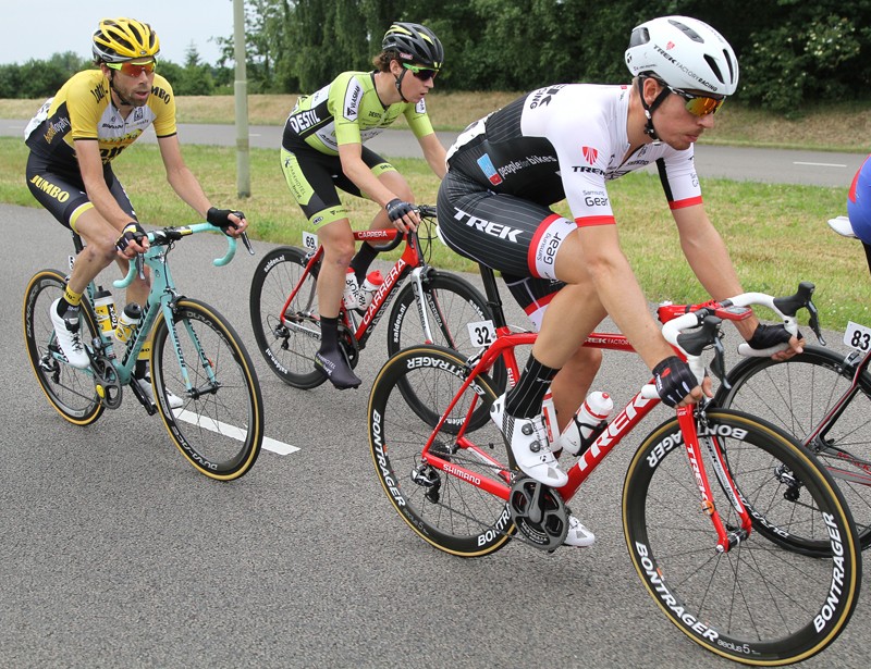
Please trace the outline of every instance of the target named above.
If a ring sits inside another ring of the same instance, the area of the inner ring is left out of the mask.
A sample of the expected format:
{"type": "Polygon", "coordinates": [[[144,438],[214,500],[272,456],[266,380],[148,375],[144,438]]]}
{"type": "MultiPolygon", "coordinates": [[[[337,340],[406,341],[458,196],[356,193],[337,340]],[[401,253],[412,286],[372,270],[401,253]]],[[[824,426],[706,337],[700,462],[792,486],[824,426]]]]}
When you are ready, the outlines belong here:
{"type": "Polygon", "coordinates": [[[318,273],[318,309],[321,346],[315,355],[315,368],[338,388],[352,388],[360,380],[351,370],[339,344],[339,312],[345,289],[345,274],[354,253],[354,236],[347,212],[339,199],[335,182],[346,179],[338,157],[312,149],[282,147],[281,166],[287,187],[311,225],[317,226],[323,246],[318,273]]]}

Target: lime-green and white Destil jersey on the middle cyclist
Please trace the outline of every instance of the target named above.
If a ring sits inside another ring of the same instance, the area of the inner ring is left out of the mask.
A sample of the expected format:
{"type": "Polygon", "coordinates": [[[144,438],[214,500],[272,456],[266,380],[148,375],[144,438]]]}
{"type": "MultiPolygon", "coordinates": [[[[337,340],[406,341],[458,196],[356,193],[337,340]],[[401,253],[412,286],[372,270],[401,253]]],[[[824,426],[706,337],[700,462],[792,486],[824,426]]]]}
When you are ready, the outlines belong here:
{"type": "Polygon", "coordinates": [[[322,153],[336,156],[340,145],[366,143],[400,114],[418,139],[433,132],[424,100],[384,107],[375,88],[375,72],[343,72],[317,92],[297,100],[285,132],[296,133],[322,153]]]}

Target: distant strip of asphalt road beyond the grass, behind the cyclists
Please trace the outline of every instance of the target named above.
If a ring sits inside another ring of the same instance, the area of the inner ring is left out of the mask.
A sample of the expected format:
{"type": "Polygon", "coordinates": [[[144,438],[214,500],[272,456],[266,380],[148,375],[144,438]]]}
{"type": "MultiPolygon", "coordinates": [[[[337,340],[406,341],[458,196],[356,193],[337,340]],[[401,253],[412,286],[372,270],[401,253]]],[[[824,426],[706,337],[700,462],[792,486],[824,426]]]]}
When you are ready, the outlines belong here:
{"type": "MultiPolygon", "coordinates": [[[[21,136],[25,125],[26,122],[22,120],[0,119],[0,135],[21,136]]],[[[249,146],[278,150],[282,129],[277,125],[253,125],[248,128],[249,146]]],[[[439,133],[439,138],[447,147],[456,135],[457,133],[439,133]]],[[[236,146],[235,127],[232,125],[182,124],[179,126],[179,137],[183,145],[236,146]]],[[[149,129],[143,139],[155,141],[154,131],[149,129]]],[[[384,131],[366,146],[388,157],[422,158],[420,147],[409,131],[384,131]]],[[[864,153],[752,149],[704,144],[696,147],[696,164],[700,176],[780,184],[847,187],[864,158],[864,153]]]]}

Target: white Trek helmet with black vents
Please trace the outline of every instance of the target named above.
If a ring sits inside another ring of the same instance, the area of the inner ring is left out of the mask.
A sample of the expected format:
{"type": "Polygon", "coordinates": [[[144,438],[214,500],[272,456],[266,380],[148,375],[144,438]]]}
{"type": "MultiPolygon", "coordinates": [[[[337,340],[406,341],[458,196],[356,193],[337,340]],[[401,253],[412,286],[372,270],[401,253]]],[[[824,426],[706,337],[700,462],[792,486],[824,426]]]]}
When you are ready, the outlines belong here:
{"type": "Polygon", "coordinates": [[[633,76],[651,74],[672,88],[729,96],[738,87],[738,59],[723,36],[688,16],[662,16],[633,30],[626,49],[633,76]]]}

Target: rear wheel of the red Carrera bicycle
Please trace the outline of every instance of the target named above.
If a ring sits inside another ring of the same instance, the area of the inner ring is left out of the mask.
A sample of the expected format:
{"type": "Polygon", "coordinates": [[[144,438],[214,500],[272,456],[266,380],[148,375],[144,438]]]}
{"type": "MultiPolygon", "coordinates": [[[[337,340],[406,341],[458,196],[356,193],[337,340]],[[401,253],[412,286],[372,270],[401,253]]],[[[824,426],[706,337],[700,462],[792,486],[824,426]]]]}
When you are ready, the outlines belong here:
{"type": "Polygon", "coordinates": [[[257,348],[267,367],[284,383],[311,389],[327,377],[315,369],[320,348],[318,267],[311,269],[293,303],[287,308],[292,325],[282,325],[279,312],[306,269],[306,251],[282,246],[257,263],[252,277],[250,319],[257,348]]]}

